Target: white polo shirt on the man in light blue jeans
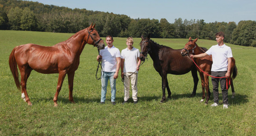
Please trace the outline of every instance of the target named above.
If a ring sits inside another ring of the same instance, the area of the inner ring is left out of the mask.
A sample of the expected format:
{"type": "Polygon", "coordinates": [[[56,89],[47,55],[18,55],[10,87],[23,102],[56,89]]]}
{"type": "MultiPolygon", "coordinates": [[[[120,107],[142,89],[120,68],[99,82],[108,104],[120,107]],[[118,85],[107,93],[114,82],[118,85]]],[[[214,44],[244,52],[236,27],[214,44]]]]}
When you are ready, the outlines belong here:
{"type": "Polygon", "coordinates": [[[100,55],[102,56],[102,70],[104,72],[116,72],[116,58],[121,57],[120,51],[114,46],[111,48],[107,46],[100,50],[100,55]]]}

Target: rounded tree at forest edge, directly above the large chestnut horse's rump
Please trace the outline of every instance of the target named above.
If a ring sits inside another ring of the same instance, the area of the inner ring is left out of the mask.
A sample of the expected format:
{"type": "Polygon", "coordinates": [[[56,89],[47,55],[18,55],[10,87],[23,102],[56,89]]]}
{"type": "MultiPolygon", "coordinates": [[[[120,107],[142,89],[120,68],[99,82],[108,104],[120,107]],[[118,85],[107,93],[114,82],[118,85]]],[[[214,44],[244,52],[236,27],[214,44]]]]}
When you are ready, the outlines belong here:
{"type": "Polygon", "coordinates": [[[34,31],[37,27],[36,16],[28,7],[25,7],[21,14],[21,30],[34,31]]]}

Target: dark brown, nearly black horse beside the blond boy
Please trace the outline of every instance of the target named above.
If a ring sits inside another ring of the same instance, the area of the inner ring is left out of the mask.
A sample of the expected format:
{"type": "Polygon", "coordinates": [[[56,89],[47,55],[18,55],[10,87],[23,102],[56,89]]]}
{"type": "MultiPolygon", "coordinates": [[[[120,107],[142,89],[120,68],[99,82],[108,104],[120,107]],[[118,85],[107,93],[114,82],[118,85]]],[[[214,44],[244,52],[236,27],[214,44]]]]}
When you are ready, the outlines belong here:
{"type": "Polygon", "coordinates": [[[141,39],[140,60],[144,61],[149,54],[153,60],[155,70],[162,78],[163,97],[161,102],[164,102],[166,99],[165,88],[167,88],[168,91],[168,98],[171,97],[171,91],[167,81],[167,74],[181,75],[191,71],[194,79],[194,88],[191,96],[195,96],[197,83],[199,81],[197,77],[197,70],[193,61],[188,56],[181,56],[180,52],[182,49],[175,50],[167,46],[159,45],[150,39],[150,35],[147,37],[143,37],[142,35],[141,39]]]}

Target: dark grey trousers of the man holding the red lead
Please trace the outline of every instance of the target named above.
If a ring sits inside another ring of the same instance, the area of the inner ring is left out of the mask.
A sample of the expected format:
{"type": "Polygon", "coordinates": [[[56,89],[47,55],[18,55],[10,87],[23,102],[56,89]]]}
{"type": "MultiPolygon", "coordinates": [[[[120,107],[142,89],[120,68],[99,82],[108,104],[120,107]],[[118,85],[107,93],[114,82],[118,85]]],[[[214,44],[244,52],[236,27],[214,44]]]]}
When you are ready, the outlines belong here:
{"type": "MultiPolygon", "coordinates": [[[[227,71],[212,71],[213,77],[225,77],[227,71]]],[[[222,100],[223,104],[228,104],[228,88],[226,87],[226,78],[212,78],[213,83],[213,97],[214,102],[219,104],[219,82],[220,88],[222,90],[222,100]]]]}

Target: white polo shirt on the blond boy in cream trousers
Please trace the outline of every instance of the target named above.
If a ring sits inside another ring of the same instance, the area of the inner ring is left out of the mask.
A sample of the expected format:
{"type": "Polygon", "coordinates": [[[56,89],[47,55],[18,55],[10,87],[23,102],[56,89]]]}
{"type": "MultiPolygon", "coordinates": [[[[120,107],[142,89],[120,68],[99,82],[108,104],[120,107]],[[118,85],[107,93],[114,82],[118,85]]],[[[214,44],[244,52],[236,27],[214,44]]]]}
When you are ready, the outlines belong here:
{"type": "Polygon", "coordinates": [[[137,71],[137,61],[140,56],[139,49],[133,47],[131,50],[128,48],[121,51],[121,58],[125,59],[123,72],[135,72],[137,71]]]}

